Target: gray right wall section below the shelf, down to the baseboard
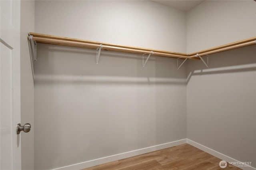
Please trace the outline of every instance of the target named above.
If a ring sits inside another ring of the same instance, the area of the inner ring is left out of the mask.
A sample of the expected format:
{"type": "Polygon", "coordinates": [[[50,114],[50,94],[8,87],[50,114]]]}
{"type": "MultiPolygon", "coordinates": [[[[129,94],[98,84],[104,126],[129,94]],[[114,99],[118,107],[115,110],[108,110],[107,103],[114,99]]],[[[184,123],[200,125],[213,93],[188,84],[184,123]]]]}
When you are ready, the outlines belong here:
{"type": "Polygon", "coordinates": [[[256,47],[188,63],[187,138],[256,167],[256,47]]]}

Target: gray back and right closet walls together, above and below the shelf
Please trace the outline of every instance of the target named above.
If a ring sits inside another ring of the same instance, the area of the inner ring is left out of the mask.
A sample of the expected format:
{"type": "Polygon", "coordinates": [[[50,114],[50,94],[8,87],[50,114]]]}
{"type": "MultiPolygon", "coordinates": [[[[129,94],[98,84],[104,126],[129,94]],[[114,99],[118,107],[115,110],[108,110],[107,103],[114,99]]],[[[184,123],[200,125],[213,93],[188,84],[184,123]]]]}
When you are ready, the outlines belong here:
{"type": "MultiPolygon", "coordinates": [[[[36,1],[35,32],[191,53],[255,37],[255,9],[252,0],[187,13],[150,1],[36,1]]],[[[173,58],[152,56],[143,69],[136,54],[102,51],[96,65],[92,49],[37,50],[36,170],[183,138],[256,167],[255,45],[178,71],[173,58]]]]}

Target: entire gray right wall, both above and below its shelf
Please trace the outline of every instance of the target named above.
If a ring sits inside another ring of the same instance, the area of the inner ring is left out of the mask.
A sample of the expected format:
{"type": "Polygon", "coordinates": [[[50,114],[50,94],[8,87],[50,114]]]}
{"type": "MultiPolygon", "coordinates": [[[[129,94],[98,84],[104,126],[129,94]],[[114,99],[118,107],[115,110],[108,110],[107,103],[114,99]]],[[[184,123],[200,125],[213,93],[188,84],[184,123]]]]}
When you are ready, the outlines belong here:
{"type": "MultiPolygon", "coordinates": [[[[254,1],[199,4],[186,14],[187,52],[255,37],[255,11],[254,1]]],[[[209,62],[209,69],[187,64],[187,138],[256,167],[256,46],[211,54],[209,62]]]]}

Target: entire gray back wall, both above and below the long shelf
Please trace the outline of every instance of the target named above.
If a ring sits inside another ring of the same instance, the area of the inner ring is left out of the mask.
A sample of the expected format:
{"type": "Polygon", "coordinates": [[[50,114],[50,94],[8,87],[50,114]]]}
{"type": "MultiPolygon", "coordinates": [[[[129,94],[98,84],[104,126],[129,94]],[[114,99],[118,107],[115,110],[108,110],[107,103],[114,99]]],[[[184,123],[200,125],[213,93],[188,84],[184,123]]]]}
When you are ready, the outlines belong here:
{"type": "MultiPolygon", "coordinates": [[[[154,2],[36,1],[35,8],[38,33],[186,51],[185,12],[154,2]]],[[[37,58],[36,170],[186,138],[186,70],[176,59],[152,55],[143,69],[142,55],[101,51],[96,65],[96,50],[41,43],[37,58]]]]}

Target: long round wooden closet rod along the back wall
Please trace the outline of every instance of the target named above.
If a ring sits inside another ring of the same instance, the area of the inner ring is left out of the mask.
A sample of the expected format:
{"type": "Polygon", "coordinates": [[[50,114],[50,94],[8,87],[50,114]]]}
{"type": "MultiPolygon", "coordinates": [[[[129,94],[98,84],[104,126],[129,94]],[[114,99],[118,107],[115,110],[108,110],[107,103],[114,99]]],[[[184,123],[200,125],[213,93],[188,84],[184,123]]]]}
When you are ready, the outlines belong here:
{"type": "MultiPolygon", "coordinates": [[[[89,49],[97,49],[98,47],[100,47],[100,44],[57,40],[57,39],[51,39],[51,38],[40,38],[40,37],[34,37],[34,36],[32,37],[32,40],[35,40],[38,43],[48,43],[48,44],[54,44],[54,45],[63,45],[63,46],[89,48],[89,49]]],[[[145,51],[145,50],[140,50],[140,49],[130,49],[130,48],[124,48],[124,47],[115,47],[115,46],[110,46],[110,45],[102,45],[101,50],[124,52],[124,53],[134,53],[134,54],[141,54],[141,55],[144,53],[152,53],[152,51],[145,51]]],[[[160,57],[174,57],[174,58],[182,58],[182,59],[189,58],[188,56],[184,56],[184,55],[161,53],[161,52],[156,52],[156,51],[154,51],[154,55],[160,56],[160,57]]]]}

